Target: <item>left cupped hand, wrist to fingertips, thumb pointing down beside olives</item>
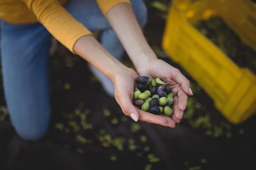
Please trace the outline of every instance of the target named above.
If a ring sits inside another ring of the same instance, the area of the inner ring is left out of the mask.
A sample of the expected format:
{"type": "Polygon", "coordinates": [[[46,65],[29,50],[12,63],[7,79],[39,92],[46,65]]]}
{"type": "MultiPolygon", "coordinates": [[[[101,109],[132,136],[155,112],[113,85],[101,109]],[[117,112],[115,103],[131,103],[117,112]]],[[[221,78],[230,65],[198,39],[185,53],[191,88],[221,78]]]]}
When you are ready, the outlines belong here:
{"type": "Polygon", "coordinates": [[[130,116],[135,122],[137,122],[137,120],[141,120],[158,125],[175,127],[175,122],[170,117],[154,115],[142,111],[132,104],[136,85],[135,79],[137,77],[139,77],[139,75],[134,70],[126,68],[122,69],[119,74],[116,74],[113,79],[116,101],[122,108],[123,113],[130,116]]]}

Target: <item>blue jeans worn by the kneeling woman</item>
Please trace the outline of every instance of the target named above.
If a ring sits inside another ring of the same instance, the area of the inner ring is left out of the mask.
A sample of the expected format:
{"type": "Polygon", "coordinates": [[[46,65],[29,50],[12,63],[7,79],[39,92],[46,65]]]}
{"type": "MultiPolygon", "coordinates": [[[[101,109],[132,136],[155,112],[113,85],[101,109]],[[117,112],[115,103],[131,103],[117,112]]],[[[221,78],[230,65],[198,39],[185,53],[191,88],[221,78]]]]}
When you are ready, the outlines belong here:
{"type": "MultiPolygon", "coordinates": [[[[131,0],[138,23],[144,28],[147,8],[131,0]]],[[[95,0],[70,0],[67,11],[90,31],[103,30],[102,46],[121,59],[122,44],[95,0]]],[[[3,86],[10,119],[24,140],[41,139],[49,129],[48,64],[51,35],[40,23],[15,25],[0,21],[3,86]]]]}

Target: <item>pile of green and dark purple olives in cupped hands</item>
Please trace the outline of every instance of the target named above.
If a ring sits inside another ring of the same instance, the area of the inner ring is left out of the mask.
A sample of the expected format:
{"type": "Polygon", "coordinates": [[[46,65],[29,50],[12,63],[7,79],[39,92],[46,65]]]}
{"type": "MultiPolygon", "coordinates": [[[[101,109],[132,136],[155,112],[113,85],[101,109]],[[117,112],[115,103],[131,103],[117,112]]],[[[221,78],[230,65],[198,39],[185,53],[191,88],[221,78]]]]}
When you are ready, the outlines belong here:
{"type": "Polygon", "coordinates": [[[134,91],[133,105],[152,114],[164,113],[166,116],[172,116],[174,95],[167,83],[160,78],[147,76],[137,77],[135,82],[137,88],[134,91]]]}

